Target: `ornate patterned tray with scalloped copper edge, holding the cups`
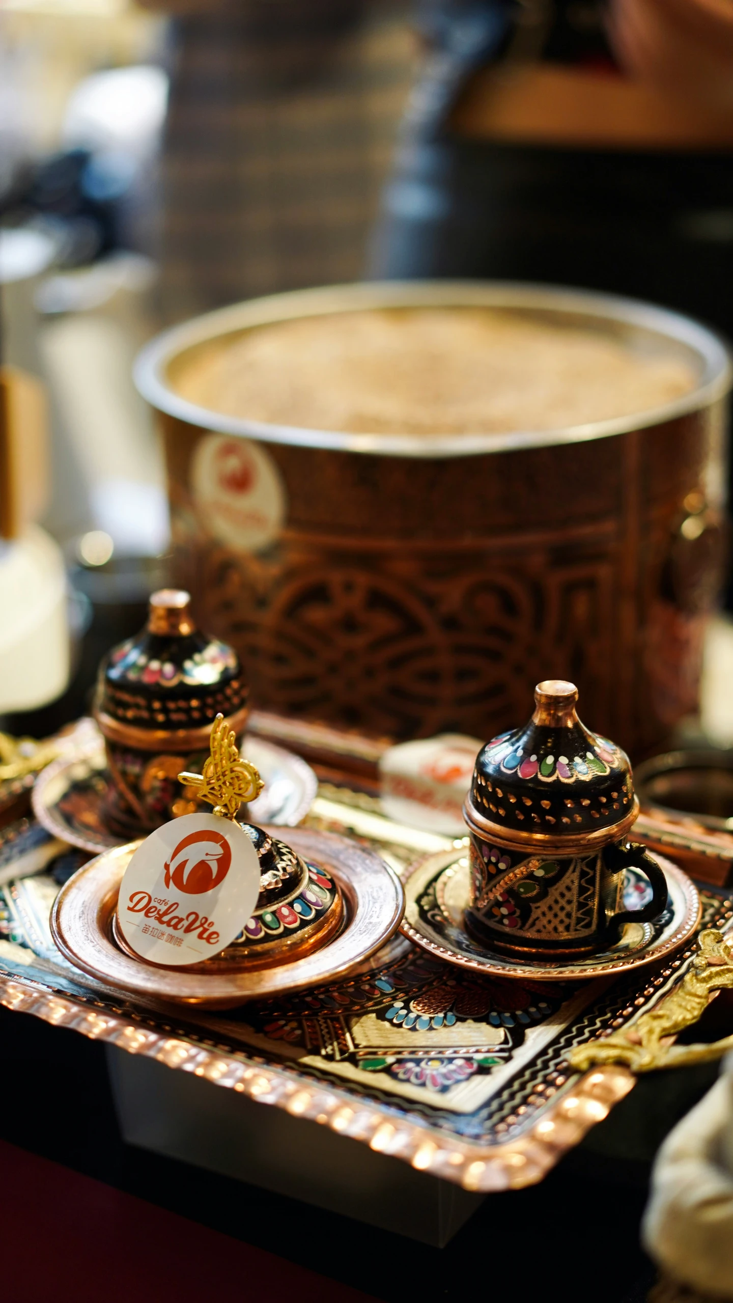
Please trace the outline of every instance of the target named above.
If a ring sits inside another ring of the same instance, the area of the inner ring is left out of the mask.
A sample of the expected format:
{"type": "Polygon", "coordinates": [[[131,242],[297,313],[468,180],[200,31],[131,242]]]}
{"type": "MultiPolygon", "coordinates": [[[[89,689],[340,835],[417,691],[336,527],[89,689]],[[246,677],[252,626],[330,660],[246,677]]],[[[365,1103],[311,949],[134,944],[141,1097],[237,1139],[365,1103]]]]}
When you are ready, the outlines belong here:
{"type": "MultiPolygon", "coordinates": [[[[348,830],[397,869],[423,850],[460,850],[434,834],[415,846],[415,830],[384,817],[376,800],[335,784],[322,786],[309,821],[348,830]]],[[[18,856],[30,831],[16,831],[18,856]]],[[[700,929],[733,920],[733,893],[706,887],[686,945],[591,981],[486,976],[397,937],[346,977],[203,1011],[124,995],[64,959],[48,917],[77,855],[0,891],[3,1005],[318,1119],[475,1191],[540,1181],[633,1088],[622,1063],[574,1068],[574,1048],[603,1049],[609,1033],[635,1027],[691,972],[700,929]]]]}

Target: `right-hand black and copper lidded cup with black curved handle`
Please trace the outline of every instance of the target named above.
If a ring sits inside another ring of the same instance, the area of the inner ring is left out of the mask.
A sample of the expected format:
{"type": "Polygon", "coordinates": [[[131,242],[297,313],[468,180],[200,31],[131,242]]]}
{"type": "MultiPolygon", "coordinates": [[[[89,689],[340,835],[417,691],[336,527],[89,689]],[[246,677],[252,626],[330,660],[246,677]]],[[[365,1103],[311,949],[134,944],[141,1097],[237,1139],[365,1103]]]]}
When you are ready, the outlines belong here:
{"type": "Polygon", "coordinates": [[[629,842],[639,805],[620,747],[591,734],[572,683],[535,688],[523,728],[493,737],[477,757],[463,814],[471,838],[466,930],[488,949],[538,956],[594,954],[628,923],[657,919],[667,881],[629,842]],[[626,870],[648,882],[642,908],[624,908],[626,870]]]}

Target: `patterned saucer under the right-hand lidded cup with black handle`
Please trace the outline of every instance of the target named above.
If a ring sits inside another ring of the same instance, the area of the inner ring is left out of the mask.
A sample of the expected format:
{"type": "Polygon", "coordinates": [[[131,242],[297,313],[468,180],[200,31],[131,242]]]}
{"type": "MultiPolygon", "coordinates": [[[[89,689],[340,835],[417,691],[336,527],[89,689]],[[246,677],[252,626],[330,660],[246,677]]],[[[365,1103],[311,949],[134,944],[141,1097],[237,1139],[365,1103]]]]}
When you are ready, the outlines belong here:
{"type": "MultiPolygon", "coordinates": [[[[667,877],[667,909],[655,923],[628,923],[615,946],[582,959],[519,960],[484,950],[463,929],[469,904],[470,869],[465,850],[439,851],[422,860],[405,882],[405,917],[401,932],[437,959],[495,977],[538,977],[543,981],[603,977],[652,964],[684,946],[700,916],[694,882],[671,860],[656,855],[667,877]]],[[[643,874],[626,869],[624,899],[641,908],[650,891],[643,874]]]]}

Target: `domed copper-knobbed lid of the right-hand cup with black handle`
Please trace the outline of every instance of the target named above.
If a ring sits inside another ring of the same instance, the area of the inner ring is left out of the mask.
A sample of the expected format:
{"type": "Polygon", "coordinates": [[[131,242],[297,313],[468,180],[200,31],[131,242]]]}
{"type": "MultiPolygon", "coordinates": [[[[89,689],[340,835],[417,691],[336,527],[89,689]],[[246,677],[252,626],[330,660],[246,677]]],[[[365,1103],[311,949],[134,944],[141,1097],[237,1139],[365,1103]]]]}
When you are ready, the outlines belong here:
{"type": "Polygon", "coordinates": [[[573,852],[624,835],[639,809],[629,757],[581,723],[577,701],[573,683],[538,683],[529,723],[477,756],[469,825],[509,846],[573,852]]]}

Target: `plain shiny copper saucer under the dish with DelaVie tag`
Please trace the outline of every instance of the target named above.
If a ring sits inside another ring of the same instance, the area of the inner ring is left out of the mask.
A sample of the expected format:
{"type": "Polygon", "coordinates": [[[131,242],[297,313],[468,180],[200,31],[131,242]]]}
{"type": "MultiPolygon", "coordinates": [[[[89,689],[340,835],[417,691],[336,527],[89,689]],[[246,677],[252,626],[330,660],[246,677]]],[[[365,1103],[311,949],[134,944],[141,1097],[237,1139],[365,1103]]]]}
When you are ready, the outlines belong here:
{"type": "Polygon", "coordinates": [[[112,919],[122,874],[139,842],[105,851],[66,882],[51,913],[53,939],[77,968],[147,999],[233,1009],[249,999],[335,981],[397,932],[405,907],[402,886],[374,851],[332,833],[293,829],[288,843],[309,863],[336,877],[346,906],[346,921],[339,936],[302,959],[255,971],[242,966],[223,973],[159,968],[124,954],[115,945],[112,919]]]}

